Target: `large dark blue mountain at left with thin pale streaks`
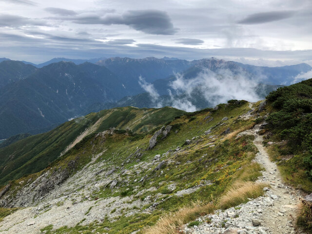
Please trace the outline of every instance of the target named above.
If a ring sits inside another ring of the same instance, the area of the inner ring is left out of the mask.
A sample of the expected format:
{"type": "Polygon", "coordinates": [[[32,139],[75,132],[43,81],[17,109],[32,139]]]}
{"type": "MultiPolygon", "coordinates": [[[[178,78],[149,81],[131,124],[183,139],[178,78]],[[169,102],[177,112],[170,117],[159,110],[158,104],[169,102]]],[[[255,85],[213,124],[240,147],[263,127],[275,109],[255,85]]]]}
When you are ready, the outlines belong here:
{"type": "Polygon", "coordinates": [[[59,62],[0,89],[0,139],[38,133],[87,114],[96,102],[118,100],[125,92],[118,77],[92,63],[59,62]]]}

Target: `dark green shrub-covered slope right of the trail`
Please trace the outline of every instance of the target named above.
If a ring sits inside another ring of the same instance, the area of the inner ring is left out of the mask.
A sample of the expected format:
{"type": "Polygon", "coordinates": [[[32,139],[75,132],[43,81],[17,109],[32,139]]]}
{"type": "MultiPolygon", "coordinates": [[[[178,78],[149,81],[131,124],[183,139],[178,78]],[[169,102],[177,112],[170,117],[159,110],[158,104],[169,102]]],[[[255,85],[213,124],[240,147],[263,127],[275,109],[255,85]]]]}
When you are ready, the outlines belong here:
{"type": "MultiPolygon", "coordinates": [[[[312,79],[279,88],[267,96],[268,125],[262,131],[285,182],[312,193],[312,79]]],[[[303,203],[297,225],[312,233],[311,204],[303,203]]]]}

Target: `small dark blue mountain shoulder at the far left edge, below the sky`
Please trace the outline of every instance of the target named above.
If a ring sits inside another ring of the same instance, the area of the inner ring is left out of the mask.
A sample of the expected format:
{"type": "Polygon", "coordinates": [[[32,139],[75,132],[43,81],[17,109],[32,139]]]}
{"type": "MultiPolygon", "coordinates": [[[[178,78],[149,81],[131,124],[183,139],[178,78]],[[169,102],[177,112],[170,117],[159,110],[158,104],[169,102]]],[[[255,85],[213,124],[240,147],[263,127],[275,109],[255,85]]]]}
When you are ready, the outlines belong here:
{"type": "Polygon", "coordinates": [[[36,67],[20,61],[3,60],[0,62],[0,88],[3,88],[9,83],[24,79],[36,70],[36,67]]]}

